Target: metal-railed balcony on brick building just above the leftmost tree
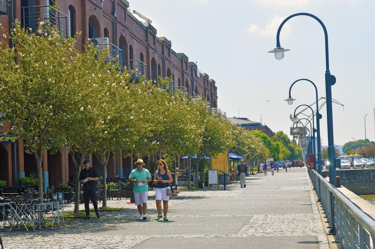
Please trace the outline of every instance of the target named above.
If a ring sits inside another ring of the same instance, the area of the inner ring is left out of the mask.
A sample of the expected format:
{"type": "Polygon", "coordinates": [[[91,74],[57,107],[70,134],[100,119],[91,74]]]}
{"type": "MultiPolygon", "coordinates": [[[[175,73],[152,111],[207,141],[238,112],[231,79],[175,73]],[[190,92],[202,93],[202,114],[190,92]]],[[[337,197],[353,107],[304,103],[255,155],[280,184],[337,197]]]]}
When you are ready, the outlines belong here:
{"type": "Polygon", "coordinates": [[[36,32],[40,26],[45,27],[46,24],[50,24],[58,28],[62,37],[69,36],[68,16],[52,6],[21,7],[21,16],[23,27],[31,28],[31,32],[36,32]]]}

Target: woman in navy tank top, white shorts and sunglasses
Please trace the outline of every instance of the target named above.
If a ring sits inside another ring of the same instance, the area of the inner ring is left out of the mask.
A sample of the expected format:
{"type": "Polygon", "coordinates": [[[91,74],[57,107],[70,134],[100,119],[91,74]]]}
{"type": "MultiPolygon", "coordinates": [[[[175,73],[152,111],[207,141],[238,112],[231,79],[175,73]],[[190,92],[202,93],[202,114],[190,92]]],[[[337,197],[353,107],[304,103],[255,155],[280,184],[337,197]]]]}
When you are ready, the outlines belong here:
{"type": "Polygon", "coordinates": [[[170,191],[170,195],[172,195],[171,188],[169,186],[169,183],[172,182],[172,175],[171,175],[171,172],[168,170],[168,166],[166,165],[166,162],[162,159],[157,161],[157,168],[158,170],[155,171],[155,177],[154,177],[154,183],[156,184],[155,200],[156,200],[156,208],[157,208],[157,216],[155,220],[159,221],[159,219],[163,218],[163,215],[162,215],[162,201],[163,201],[163,214],[164,214],[163,221],[168,221],[168,218],[166,215],[168,213],[168,201],[169,201],[168,192],[170,191]]]}

